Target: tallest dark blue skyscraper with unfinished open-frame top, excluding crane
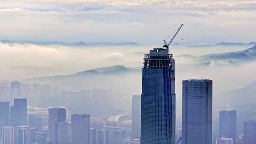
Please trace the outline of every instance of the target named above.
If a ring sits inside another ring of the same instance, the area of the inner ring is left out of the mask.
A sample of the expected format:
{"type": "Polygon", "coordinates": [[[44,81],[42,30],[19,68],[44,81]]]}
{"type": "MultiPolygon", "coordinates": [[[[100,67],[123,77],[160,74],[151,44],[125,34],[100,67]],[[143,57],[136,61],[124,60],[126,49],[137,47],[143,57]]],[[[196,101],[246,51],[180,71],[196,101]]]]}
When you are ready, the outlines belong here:
{"type": "Polygon", "coordinates": [[[154,48],[142,69],[141,144],[175,144],[175,66],[173,54],[154,48]]]}

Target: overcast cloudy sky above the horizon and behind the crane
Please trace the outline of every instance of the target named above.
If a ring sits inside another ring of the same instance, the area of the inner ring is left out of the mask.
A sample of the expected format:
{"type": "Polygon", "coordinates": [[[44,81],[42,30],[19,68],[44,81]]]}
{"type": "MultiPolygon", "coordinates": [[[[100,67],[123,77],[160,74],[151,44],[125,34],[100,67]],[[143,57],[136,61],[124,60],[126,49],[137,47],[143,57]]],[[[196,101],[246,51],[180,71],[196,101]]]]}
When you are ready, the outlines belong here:
{"type": "Polygon", "coordinates": [[[0,39],[162,44],[256,41],[256,0],[0,0],[0,39]],[[184,41],[182,41],[182,37],[184,41]]]}

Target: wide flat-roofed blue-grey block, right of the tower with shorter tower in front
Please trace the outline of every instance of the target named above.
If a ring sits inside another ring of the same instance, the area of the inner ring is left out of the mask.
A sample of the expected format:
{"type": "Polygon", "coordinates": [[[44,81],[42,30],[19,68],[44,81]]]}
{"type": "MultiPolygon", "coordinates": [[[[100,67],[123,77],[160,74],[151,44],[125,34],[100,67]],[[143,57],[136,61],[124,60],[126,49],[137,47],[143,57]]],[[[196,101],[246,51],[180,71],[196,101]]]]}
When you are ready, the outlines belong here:
{"type": "Polygon", "coordinates": [[[89,144],[90,115],[72,115],[71,125],[71,144],[89,144]]]}

